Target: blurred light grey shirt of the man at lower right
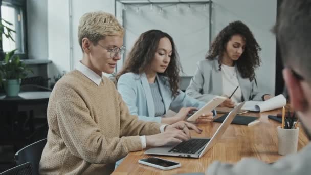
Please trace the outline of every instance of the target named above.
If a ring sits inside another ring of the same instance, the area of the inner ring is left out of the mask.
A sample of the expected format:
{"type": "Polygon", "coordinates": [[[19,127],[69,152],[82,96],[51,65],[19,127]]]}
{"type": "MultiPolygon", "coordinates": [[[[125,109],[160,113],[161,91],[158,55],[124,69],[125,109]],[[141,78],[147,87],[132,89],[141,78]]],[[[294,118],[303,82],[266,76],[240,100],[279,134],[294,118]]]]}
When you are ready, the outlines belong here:
{"type": "Polygon", "coordinates": [[[222,164],[219,161],[212,163],[206,170],[208,175],[306,175],[311,174],[311,144],[309,143],[297,154],[288,155],[274,164],[266,164],[260,160],[242,159],[235,165],[222,164]]]}

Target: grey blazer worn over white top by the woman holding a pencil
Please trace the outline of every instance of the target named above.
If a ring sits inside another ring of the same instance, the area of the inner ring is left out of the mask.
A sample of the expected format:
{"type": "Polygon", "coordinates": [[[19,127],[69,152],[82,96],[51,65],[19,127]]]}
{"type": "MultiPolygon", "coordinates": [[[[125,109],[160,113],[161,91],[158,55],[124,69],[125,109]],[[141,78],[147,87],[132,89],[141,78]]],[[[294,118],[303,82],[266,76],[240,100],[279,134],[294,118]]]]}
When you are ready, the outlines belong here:
{"type": "MultiPolygon", "coordinates": [[[[201,101],[208,102],[215,96],[223,95],[223,79],[218,70],[218,60],[202,60],[197,62],[197,70],[186,90],[186,94],[201,101]]],[[[238,72],[238,71],[237,71],[238,72]]],[[[258,92],[255,81],[242,78],[237,73],[237,79],[242,91],[242,101],[262,101],[264,93],[258,92]]]]}

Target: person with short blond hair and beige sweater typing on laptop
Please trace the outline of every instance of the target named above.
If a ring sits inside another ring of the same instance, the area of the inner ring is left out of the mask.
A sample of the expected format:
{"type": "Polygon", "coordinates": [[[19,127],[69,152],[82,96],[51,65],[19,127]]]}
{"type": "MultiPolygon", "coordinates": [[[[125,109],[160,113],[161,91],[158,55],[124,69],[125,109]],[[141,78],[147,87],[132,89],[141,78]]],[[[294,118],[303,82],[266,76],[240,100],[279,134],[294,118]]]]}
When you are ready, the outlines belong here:
{"type": "Polygon", "coordinates": [[[129,114],[114,83],[102,76],[113,73],[120,60],[123,33],[109,13],[91,12],[80,18],[83,58],[51,93],[40,174],[110,174],[128,152],[188,140],[188,127],[201,132],[184,121],[160,125],[129,114]]]}

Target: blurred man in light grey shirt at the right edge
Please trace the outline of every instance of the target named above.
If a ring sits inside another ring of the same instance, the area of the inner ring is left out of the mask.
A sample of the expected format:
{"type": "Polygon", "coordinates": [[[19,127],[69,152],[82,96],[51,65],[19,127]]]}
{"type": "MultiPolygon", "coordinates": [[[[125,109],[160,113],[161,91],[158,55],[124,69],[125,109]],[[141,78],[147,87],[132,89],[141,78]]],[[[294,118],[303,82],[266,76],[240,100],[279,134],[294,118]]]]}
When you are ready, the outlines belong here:
{"type": "MultiPolygon", "coordinates": [[[[283,77],[292,107],[302,127],[311,136],[311,1],[284,0],[275,32],[285,65],[283,77]]],[[[311,144],[297,154],[288,155],[273,164],[256,159],[243,159],[235,165],[214,162],[206,174],[299,174],[311,172],[311,144]]]]}

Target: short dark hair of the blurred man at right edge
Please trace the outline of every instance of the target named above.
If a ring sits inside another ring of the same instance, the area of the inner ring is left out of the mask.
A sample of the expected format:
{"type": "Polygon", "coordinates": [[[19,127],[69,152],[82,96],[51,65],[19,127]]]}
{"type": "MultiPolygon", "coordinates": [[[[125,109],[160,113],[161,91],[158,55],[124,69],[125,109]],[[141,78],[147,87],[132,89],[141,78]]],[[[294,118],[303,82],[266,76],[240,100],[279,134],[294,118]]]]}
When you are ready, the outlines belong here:
{"type": "Polygon", "coordinates": [[[285,67],[311,82],[311,0],[284,0],[274,30],[285,67]]]}

